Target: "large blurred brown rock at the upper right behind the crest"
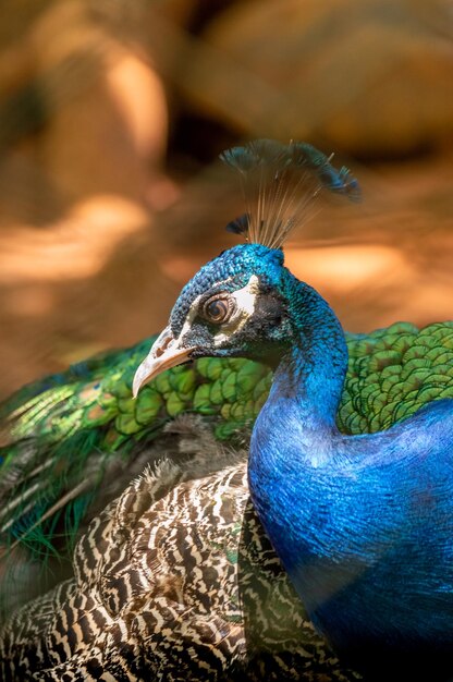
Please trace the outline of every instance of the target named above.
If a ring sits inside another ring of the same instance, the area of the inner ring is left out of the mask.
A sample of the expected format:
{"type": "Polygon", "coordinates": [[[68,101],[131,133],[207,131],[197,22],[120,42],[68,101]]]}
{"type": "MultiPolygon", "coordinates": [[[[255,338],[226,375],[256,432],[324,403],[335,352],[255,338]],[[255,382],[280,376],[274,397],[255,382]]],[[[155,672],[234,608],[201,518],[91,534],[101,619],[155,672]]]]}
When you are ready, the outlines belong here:
{"type": "MultiPolygon", "coordinates": [[[[237,70],[224,118],[243,134],[397,157],[453,133],[452,31],[436,0],[259,0],[235,3],[204,37],[237,70]]],[[[197,77],[209,98],[219,73],[197,77]]]]}

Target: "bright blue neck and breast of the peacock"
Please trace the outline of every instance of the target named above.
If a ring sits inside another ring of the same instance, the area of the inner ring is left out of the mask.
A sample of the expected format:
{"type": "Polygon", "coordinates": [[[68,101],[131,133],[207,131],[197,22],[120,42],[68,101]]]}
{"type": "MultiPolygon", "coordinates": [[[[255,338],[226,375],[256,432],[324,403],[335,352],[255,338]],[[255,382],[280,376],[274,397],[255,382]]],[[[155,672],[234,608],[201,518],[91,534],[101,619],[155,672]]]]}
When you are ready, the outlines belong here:
{"type": "Polygon", "coordinates": [[[416,672],[439,653],[451,679],[452,404],[438,401],[383,434],[340,434],[342,329],[313,289],[295,280],[285,289],[292,348],[252,435],[255,509],[339,651],[364,669],[403,657],[416,672]]]}

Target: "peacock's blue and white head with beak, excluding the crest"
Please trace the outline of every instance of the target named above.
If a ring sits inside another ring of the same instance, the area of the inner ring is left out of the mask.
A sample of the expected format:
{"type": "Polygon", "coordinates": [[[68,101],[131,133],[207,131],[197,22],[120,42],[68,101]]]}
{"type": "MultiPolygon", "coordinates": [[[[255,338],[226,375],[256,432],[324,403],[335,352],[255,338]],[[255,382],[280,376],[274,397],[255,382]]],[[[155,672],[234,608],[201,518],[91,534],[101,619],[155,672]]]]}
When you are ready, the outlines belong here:
{"type": "Polygon", "coordinates": [[[205,265],[182,290],[168,327],[134,378],[134,395],[163,369],[197,357],[240,356],[273,364],[289,343],[283,253],[241,244],[205,265]]]}

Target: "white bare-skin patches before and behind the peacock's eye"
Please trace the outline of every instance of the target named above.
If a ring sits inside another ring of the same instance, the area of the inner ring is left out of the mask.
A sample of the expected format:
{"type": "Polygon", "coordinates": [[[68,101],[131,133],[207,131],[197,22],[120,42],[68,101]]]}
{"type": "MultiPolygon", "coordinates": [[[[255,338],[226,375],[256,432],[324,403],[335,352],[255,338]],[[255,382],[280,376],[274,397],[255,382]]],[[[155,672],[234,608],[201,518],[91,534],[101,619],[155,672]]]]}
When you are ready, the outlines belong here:
{"type": "MultiPolygon", "coordinates": [[[[243,289],[231,292],[230,295],[236,301],[236,309],[234,310],[228,322],[224,322],[219,331],[215,334],[215,345],[221,345],[222,343],[228,341],[231,334],[236,333],[236,331],[240,331],[240,329],[244,327],[247,319],[255,312],[255,304],[258,291],[259,280],[256,275],[252,275],[247,284],[243,287],[243,289]]],[[[191,329],[194,319],[198,315],[198,305],[201,297],[203,294],[197,296],[192,303],[176,343],[180,341],[180,339],[183,339],[184,334],[187,333],[187,331],[191,329]]]]}

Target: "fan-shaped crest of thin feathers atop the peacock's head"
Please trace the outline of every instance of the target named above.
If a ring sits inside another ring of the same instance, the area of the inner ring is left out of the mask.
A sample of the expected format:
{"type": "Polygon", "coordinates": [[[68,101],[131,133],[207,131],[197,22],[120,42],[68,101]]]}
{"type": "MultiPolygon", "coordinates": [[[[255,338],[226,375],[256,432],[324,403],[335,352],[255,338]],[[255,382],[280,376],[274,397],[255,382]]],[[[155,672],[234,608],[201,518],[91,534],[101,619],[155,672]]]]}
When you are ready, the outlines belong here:
{"type": "Polygon", "coordinates": [[[352,200],[360,197],[347,168],[336,170],[331,157],[307,143],[256,139],[226,149],[220,158],[238,171],[246,203],[246,212],[226,229],[270,248],[280,248],[290,231],[305,221],[308,205],[322,188],[352,200]]]}

